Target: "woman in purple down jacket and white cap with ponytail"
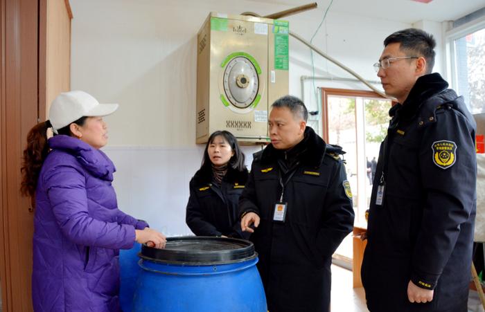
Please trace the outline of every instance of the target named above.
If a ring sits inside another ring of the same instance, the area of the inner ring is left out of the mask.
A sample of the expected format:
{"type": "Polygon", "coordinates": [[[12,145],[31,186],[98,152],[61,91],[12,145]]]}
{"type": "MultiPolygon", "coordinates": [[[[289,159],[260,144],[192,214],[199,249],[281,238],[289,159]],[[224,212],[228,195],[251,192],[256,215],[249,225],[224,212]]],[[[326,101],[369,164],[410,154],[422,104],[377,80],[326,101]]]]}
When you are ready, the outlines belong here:
{"type": "Polygon", "coordinates": [[[50,121],[28,134],[21,191],[35,195],[35,311],[119,311],[118,250],[134,241],[166,244],[145,221],[118,210],[115,168],[100,151],[107,143],[102,117],[117,108],[82,91],[61,93],[50,121]]]}

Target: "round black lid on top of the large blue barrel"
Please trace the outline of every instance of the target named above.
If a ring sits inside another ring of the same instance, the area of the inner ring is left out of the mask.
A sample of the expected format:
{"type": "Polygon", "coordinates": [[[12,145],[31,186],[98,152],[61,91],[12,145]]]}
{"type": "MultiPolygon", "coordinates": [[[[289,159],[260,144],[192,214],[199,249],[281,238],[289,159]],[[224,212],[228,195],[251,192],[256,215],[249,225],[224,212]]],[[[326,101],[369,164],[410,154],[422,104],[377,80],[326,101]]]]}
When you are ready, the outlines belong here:
{"type": "Polygon", "coordinates": [[[254,245],[245,239],[225,237],[168,237],[164,249],[143,244],[142,259],[167,264],[230,264],[254,259],[254,245]]]}

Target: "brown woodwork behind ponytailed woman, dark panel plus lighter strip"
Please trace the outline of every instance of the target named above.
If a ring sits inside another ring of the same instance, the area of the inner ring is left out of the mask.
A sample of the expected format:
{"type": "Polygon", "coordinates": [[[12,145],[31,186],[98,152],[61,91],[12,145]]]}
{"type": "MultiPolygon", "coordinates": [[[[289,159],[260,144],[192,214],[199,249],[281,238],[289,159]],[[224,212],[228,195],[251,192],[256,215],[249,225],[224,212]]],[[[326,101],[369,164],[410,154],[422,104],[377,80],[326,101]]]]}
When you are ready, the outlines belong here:
{"type": "Polygon", "coordinates": [[[70,89],[69,0],[0,2],[0,285],[3,311],[32,311],[33,206],[21,196],[21,159],[28,131],[46,120],[51,93],[70,89]],[[65,6],[67,17],[62,12],[65,6]],[[53,12],[53,13],[51,13],[53,12]],[[56,22],[68,27],[59,35],[56,22]],[[56,28],[57,27],[57,28],[56,28]],[[69,36],[65,47],[64,37],[69,36]],[[64,45],[62,45],[64,44],[64,45]],[[64,50],[62,50],[64,47],[64,50]],[[65,56],[65,55],[64,55],[65,56]],[[51,60],[49,64],[48,60],[51,60]],[[60,73],[60,71],[62,73],[60,73]],[[67,74],[65,72],[67,70],[67,74]],[[60,83],[58,76],[68,77],[60,83]]]}

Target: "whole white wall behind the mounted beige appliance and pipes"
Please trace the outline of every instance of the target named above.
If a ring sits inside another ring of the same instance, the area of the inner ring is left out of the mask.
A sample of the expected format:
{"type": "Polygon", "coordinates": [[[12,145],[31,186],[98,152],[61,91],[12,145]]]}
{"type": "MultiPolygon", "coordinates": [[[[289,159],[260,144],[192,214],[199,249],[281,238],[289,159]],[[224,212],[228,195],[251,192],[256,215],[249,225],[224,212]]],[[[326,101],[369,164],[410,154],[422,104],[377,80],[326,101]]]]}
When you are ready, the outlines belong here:
{"type": "MultiPolygon", "coordinates": [[[[71,89],[120,104],[106,118],[110,138],[105,147],[118,169],[114,186],[120,208],[168,235],[189,233],[184,222],[188,181],[200,166],[203,149],[195,145],[197,31],[211,11],[265,15],[289,7],[247,0],[71,0],[71,6],[71,89]]],[[[309,40],[324,6],[288,17],[290,30],[309,40]]],[[[330,9],[314,44],[363,77],[377,80],[372,64],[382,52],[383,39],[410,26],[330,9]]],[[[318,55],[315,66],[317,76],[351,77],[318,55]]],[[[301,96],[301,75],[312,75],[310,51],[290,39],[293,95],[301,96]]],[[[365,89],[360,83],[317,81],[315,86],[365,89]]],[[[306,82],[305,98],[308,109],[315,110],[310,87],[306,82]]],[[[248,164],[258,149],[244,147],[248,164]]]]}

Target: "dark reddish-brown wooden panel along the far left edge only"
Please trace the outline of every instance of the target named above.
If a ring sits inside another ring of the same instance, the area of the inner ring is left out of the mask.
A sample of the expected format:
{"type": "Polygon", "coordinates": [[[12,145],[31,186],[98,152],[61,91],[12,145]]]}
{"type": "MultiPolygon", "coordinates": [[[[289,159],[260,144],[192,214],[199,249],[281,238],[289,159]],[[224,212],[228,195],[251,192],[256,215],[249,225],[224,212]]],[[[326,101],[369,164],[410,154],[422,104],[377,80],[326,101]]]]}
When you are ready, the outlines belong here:
{"type": "Polygon", "coordinates": [[[3,311],[31,311],[33,212],[21,196],[21,156],[39,119],[39,2],[1,1],[0,279],[3,311]]]}

